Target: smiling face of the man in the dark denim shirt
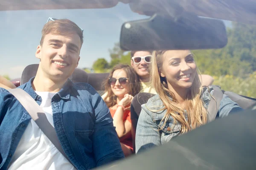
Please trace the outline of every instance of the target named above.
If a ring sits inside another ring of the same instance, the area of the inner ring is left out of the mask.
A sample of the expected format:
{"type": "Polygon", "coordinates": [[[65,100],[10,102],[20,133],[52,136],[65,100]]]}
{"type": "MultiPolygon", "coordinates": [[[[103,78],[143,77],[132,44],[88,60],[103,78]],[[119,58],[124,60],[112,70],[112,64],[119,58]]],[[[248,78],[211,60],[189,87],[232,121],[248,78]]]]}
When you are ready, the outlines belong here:
{"type": "Polygon", "coordinates": [[[78,34],[69,36],[47,34],[44,43],[38,45],[36,57],[44,77],[52,80],[67,79],[79,63],[81,40],[78,34]]]}

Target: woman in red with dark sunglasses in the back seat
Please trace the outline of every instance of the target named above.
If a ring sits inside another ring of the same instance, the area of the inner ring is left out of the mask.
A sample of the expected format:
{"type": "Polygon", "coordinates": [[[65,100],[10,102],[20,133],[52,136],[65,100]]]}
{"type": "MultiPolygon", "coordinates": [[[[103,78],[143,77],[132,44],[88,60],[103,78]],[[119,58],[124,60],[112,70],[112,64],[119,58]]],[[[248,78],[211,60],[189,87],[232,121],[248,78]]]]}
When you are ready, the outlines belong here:
{"type": "Polygon", "coordinates": [[[116,65],[105,82],[108,95],[104,99],[125,156],[133,153],[130,105],[140,91],[140,79],[129,65],[116,65]]]}

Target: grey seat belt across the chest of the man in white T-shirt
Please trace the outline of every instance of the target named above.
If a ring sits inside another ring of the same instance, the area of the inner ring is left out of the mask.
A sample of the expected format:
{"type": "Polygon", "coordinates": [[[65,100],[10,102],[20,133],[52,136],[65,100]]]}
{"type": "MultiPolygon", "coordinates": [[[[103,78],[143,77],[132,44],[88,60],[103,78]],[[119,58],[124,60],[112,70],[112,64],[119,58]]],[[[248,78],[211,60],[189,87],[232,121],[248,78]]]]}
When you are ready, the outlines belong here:
{"type": "MultiPolygon", "coordinates": [[[[54,146],[60,151],[60,153],[68,160],[67,155],[64,153],[64,150],[61,147],[61,143],[58,140],[57,133],[49,123],[44,110],[38,105],[35,100],[23,91],[21,88],[8,89],[8,91],[16,97],[16,99],[20,102],[21,105],[26,109],[26,111],[30,114],[32,119],[38,125],[38,127],[42,130],[42,132],[47,136],[47,138],[54,144],[54,146]]],[[[72,162],[70,161],[72,164],[72,162]]],[[[74,164],[73,164],[74,166],[74,164]]],[[[75,167],[75,166],[74,166],[75,167]]]]}

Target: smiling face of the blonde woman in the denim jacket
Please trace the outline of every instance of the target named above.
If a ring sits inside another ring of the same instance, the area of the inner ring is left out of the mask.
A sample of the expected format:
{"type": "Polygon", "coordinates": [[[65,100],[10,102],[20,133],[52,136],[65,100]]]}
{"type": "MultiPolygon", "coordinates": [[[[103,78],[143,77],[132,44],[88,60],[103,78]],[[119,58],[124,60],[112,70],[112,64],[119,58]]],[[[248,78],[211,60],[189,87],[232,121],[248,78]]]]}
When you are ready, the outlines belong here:
{"type": "MultiPolygon", "coordinates": [[[[196,65],[189,50],[169,50],[162,56],[160,76],[166,77],[168,88],[190,88],[195,79],[196,65]]],[[[170,89],[171,90],[171,89],[170,89]]]]}

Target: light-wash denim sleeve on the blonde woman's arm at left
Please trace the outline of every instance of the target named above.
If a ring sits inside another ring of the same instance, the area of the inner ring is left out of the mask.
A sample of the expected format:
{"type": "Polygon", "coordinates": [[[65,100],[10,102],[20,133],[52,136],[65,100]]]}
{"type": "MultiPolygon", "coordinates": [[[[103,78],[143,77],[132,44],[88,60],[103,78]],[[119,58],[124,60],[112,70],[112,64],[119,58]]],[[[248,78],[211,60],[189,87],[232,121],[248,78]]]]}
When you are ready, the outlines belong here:
{"type": "Polygon", "coordinates": [[[161,144],[161,136],[158,127],[151,119],[151,111],[142,105],[140,116],[137,123],[135,148],[136,154],[161,144]]]}

